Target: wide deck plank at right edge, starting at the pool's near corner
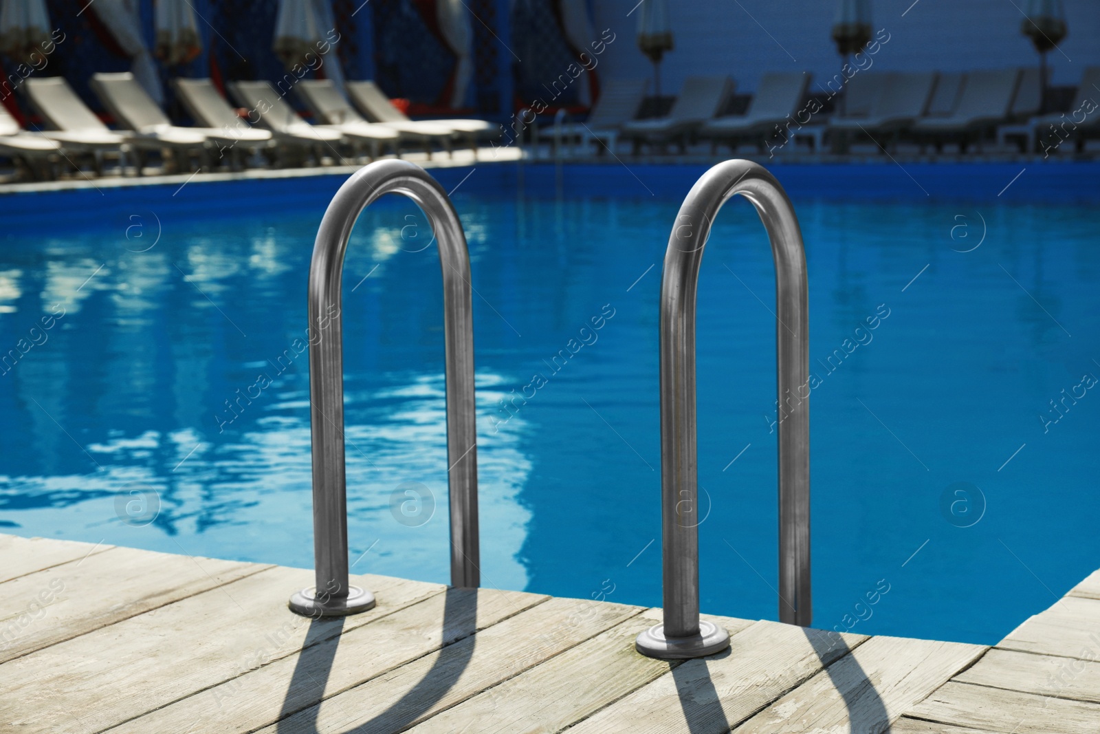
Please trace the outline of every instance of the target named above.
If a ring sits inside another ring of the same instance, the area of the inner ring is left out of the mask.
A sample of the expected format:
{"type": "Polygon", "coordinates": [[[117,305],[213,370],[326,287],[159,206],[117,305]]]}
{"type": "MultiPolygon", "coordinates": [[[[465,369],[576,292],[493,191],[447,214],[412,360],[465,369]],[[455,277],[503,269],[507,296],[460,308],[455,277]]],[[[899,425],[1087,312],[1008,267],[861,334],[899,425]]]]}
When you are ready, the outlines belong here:
{"type": "Polygon", "coordinates": [[[1028,618],[997,645],[1003,649],[1078,657],[1100,653],[1100,600],[1063,596],[1054,606],[1028,618]]]}

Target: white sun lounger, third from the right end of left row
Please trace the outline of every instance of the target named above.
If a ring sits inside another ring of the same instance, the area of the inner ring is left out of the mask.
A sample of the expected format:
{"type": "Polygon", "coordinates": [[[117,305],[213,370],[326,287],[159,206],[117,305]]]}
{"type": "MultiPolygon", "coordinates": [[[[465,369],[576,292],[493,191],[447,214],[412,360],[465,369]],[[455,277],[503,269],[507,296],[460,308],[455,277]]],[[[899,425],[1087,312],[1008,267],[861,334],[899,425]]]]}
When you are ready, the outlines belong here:
{"type": "Polygon", "coordinates": [[[366,144],[371,149],[371,157],[378,157],[383,143],[396,146],[398,135],[393,130],[366,128],[346,129],[338,125],[309,124],[294,111],[283,97],[267,81],[231,81],[229,90],[237,101],[255,111],[260,124],[271,130],[277,136],[302,140],[312,136],[315,143],[328,147],[333,153],[336,145],[348,141],[353,149],[366,144]]]}

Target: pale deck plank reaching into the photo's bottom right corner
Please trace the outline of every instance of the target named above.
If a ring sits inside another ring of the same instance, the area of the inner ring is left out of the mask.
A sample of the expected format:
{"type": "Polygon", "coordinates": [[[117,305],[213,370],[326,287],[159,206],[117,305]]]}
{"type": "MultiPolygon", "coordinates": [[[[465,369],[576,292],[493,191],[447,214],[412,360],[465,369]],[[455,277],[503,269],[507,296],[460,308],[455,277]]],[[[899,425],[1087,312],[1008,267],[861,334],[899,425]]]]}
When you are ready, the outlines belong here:
{"type": "Polygon", "coordinates": [[[999,734],[1096,734],[1100,705],[948,682],[906,714],[999,734]]]}

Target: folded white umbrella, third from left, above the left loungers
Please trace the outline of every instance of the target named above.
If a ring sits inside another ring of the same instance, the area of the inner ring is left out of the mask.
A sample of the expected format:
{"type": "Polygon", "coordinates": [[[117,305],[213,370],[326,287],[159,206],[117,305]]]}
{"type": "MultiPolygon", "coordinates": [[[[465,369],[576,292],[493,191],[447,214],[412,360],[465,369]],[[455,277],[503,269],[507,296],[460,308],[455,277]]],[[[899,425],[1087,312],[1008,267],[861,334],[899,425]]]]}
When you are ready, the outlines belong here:
{"type": "Polygon", "coordinates": [[[275,18],[275,40],[272,48],[286,68],[297,64],[319,68],[310,63],[308,54],[320,57],[321,73],[343,89],[343,72],[336,52],[336,20],[329,0],[279,0],[278,15],[275,18]],[[330,47],[322,54],[321,48],[330,47]]]}

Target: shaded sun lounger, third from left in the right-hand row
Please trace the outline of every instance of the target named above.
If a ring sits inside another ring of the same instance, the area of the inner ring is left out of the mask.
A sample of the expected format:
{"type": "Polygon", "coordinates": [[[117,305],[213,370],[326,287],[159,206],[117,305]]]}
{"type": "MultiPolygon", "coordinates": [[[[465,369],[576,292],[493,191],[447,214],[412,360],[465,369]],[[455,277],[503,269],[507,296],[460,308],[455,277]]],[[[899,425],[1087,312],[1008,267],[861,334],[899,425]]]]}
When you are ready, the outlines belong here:
{"type": "Polygon", "coordinates": [[[802,72],[765,74],[745,114],[711,120],[700,128],[698,134],[711,139],[713,149],[719,142],[736,149],[740,141],[755,140],[762,150],[777,127],[783,128],[795,117],[809,84],[810,75],[802,72]]]}

